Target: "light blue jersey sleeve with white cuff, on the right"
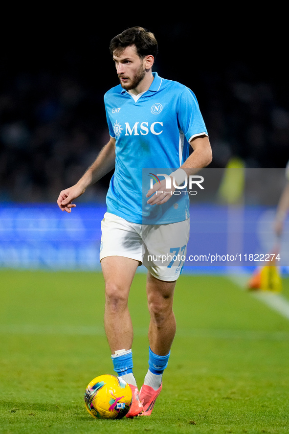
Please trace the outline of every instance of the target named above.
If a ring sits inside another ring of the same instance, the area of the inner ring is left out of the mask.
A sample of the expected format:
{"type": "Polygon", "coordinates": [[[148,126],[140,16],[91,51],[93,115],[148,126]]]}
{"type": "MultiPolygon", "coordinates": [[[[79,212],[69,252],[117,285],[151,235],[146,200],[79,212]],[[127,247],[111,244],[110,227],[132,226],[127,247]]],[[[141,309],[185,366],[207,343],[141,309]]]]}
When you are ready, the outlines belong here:
{"type": "Polygon", "coordinates": [[[184,88],[179,96],[178,123],[188,142],[197,136],[208,136],[197,98],[188,88],[184,88]]]}

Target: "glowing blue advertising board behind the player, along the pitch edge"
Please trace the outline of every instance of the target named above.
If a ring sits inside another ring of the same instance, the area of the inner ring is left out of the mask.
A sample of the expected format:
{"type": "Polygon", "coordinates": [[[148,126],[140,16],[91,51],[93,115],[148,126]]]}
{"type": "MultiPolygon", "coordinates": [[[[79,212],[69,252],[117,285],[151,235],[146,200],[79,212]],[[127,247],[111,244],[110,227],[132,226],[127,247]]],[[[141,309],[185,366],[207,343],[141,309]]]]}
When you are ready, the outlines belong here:
{"type": "MultiPolygon", "coordinates": [[[[70,214],[54,204],[0,206],[0,267],[99,270],[105,212],[106,206],[86,204],[79,204],[70,214]]],[[[230,266],[241,270],[266,265],[262,258],[274,247],[273,219],[274,209],[266,206],[191,207],[184,272],[220,273],[230,266]]],[[[288,233],[286,229],[277,262],[285,269],[289,265],[288,233]]]]}

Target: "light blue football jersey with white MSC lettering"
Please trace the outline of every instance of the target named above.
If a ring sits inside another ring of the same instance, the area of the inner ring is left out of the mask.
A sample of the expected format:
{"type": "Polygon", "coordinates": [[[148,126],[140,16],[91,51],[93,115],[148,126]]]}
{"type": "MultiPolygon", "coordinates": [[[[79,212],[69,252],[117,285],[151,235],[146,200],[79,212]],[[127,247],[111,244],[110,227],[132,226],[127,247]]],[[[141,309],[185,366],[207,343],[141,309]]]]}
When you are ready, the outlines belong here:
{"type": "Polygon", "coordinates": [[[107,210],[138,224],[166,224],[188,218],[187,194],[154,206],[146,204],[145,195],[152,174],[169,175],[188,158],[189,141],[207,135],[195,94],[176,81],[161,78],[156,72],[153,75],[150,89],[136,102],[121,85],[104,96],[110,136],[116,139],[107,210]]]}

